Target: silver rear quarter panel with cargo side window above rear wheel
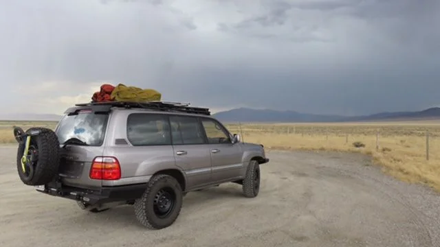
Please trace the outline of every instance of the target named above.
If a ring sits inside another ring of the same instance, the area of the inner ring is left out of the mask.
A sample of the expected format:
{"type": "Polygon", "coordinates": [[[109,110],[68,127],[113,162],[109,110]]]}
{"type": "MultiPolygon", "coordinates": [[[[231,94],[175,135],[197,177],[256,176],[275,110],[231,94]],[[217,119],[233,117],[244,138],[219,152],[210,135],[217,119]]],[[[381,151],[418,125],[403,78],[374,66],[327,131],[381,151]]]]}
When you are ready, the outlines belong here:
{"type": "MultiPolygon", "coordinates": [[[[122,178],[103,181],[104,186],[133,185],[147,183],[151,175],[162,169],[175,169],[173,145],[171,145],[168,116],[148,113],[145,110],[118,110],[110,124],[111,138],[127,139],[131,145],[108,143],[105,156],[118,158],[122,178]],[[126,121],[125,121],[126,119],[126,121]]],[[[110,135],[109,135],[110,137],[110,135]]]]}

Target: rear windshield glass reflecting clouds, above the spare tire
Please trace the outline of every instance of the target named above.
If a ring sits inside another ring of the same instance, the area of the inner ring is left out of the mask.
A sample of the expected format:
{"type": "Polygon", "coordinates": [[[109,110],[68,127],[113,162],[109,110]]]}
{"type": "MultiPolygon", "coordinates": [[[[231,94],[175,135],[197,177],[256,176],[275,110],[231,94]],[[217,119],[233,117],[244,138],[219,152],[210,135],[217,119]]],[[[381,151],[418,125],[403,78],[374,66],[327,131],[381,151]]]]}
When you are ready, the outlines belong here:
{"type": "Polygon", "coordinates": [[[108,114],[78,113],[72,116],[66,115],[61,119],[56,130],[58,141],[63,144],[69,139],[76,138],[85,142],[86,145],[100,146],[104,141],[108,119],[108,114]]]}

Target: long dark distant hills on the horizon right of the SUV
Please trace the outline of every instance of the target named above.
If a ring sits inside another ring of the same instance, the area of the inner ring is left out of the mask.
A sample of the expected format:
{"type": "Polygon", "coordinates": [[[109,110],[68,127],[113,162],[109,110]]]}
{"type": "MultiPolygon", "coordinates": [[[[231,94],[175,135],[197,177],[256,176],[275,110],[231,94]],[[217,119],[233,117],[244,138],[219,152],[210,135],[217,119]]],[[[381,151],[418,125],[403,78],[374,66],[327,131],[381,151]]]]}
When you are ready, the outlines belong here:
{"type": "Polygon", "coordinates": [[[415,112],[377,113],[373,115],[346,117],[340,115],[314,115],[298,113],[292,110],[256,110],[236,108],[214,114],[214,117],[225,122],[339,122],[339,121],[391,121],[440,119],[440,108],[434,107],[415,112]]]}

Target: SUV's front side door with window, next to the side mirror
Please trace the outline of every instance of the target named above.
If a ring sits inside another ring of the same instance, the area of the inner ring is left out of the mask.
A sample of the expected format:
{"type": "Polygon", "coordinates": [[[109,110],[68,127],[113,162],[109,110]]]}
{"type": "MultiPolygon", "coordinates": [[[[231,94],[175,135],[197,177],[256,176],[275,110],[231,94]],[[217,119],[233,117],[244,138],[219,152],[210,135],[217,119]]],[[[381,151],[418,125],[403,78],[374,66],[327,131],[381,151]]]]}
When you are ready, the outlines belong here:
{"type": "Polygon", "coordinates": [[[212,180],[222,182],[238,178],[243,169],[241,145],[232,143],[232,135],[219,121],[208,117],[200,119],[210,149],[212,180]]]}

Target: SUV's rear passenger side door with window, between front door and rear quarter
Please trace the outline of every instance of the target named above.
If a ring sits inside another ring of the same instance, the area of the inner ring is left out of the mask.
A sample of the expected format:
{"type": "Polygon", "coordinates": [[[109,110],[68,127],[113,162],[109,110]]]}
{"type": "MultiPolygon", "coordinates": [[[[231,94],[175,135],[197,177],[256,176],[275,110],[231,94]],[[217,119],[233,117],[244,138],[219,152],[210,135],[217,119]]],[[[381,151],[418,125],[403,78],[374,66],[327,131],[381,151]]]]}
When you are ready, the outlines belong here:
{"type": "Polygon", "coordinates": [[[197,117],[170,115],[176,164],[186,174],[187,187],[212,183],[210,149],[197,117]]]}

